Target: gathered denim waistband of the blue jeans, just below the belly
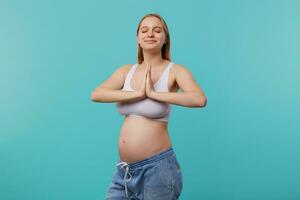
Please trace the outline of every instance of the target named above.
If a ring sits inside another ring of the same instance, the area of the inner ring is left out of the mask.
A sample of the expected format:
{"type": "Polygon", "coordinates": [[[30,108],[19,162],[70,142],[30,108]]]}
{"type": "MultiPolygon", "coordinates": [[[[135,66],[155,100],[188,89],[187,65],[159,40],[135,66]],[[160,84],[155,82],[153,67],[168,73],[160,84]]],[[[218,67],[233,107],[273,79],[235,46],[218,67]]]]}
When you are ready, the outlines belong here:
{"type": "MultiPolygon", "coordinates": [[[[169,147],[167,150],[160,152],[158,154],[155,154],[153,156],[150,156],[148,158],[145,158],[143,160],[137,161],[137,162],[132,162],[132,163],[127,163],[128,167],[131,169],[142,167],[144,165],[147,165],[149,163],[153,163],[156,161],[159,161],[161,159],[167,158],[169,156],[175,155],[173,147],[169,147]]],[[[124,162],[119,159],[119,162],[124,162]]]]}

